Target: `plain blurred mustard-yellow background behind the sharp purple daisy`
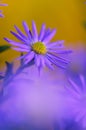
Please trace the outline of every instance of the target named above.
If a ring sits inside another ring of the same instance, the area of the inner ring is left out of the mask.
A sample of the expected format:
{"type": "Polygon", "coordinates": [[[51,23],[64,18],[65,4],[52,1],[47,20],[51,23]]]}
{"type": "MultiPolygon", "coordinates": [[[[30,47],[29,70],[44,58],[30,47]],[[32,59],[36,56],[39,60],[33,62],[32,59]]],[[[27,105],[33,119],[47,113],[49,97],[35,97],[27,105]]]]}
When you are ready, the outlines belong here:
{"type": "MultiPolygon", "coordinates": [[[[78,47],[86,42],[86,30],[83,22],[86,21],[85,0],[3,0],[7,7],[0,7],[5,18],[0,19],[0,45],[8,44],[3,37],[15,39],[10,30],[16,24],[23,30],[22,21],[26,20],[29,27],[34,20],[38,30],[42,23],[47,27],[57,28],[54,40],[65,40],[68,47],[78,47]]],[[[19,55],[18,52],[8,50],[0,54],[0,67],[4,61],[12,61],[19,55]]]]}

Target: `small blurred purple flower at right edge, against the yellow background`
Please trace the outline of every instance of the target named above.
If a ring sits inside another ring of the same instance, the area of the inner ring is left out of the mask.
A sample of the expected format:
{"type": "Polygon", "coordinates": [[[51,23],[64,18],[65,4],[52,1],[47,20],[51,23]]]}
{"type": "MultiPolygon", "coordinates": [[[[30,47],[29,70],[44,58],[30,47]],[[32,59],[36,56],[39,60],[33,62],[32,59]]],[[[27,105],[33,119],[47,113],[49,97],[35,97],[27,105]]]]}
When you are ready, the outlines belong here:
{"type": "Polygon", "coordinates": [[[86,48],[80,47],[77,50],[73,51],[73,54],[70,58],[70,61],[72,61],[66,71],[66,75],[68,77],[78,77],[78,75],[81,73],[84,76],[86,76],[86,48]]]}

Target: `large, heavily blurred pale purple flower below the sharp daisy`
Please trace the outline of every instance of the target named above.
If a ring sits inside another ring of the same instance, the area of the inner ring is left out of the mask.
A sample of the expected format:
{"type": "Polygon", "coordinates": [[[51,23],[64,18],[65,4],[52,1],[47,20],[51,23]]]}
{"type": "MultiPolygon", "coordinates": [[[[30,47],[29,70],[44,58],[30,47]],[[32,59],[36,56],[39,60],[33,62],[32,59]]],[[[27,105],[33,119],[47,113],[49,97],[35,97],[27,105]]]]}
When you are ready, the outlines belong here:
{"type": "Polygon", "coordinates": [[[22,74],[11,86],[5,87],[5,95],[2,101],[0,99],[0,128],[7,130],[16,126],[27,130],[26,127],[30,129],[29,125],[32,124],[51,129],[54,128],[54,122],[61,122],[65,113],[65,101],[61,94],[63,87],[58,85],[58,81],[54,83],[49,80],[51,76],[43,73],[39,77],[35,73],[35,77],[32,74],[32,77],[26,75],[25,78],[22,74]],[[33,78],[33,81],[27,78],[33,78]]]}

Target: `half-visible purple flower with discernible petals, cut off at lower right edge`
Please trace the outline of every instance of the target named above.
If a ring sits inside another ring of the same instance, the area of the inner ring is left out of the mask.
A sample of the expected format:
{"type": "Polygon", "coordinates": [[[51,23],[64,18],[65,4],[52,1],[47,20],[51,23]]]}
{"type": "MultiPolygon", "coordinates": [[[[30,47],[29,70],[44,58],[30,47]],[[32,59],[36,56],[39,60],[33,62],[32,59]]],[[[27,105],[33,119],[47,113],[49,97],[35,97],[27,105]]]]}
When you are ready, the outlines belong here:
{"type": "Polygon", "coordinates": [[[74,115],[76,122],[86,128],[86,82],[82,75],[80,81],[75,83],[69,79],[71,86],[66,87],[68,92],[68,102],[71,107],[71,112],[74,115]]]}

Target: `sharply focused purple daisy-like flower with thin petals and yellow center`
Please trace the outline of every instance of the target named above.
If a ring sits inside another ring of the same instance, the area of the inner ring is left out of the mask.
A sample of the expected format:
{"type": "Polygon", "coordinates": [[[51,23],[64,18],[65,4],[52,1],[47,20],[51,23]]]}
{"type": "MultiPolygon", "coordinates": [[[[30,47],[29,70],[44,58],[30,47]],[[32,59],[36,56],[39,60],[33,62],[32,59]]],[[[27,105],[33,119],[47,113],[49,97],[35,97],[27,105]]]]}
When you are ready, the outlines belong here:
{"type": "Polygon", "coordinates": [[[17,33],[11,31],[11,33],[20,41],[16,42],[5,38],[5,40],[16,46],[12,49],[20,52],[26,52],[25,55],[19,59],[24,60],[24,64],[34,60],[37,67],[40,69],[44,66],[53,69],[52,64],[65,68],[69,63],[66,59],[62,58],[62,54],[68,54],[70,51],[59,50],[63,48],[63,40],[50,42],[56,33],[56,29],[46,29],[45,24],[42,25],[40,34],[38,34],[35,22],[32,22],[32,32],[28,28],[27,23],[23,22],[23,27],[26,35],[23,34],[17,26],[14,26],[17,33]]]}

